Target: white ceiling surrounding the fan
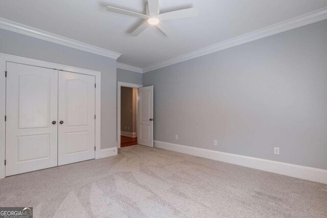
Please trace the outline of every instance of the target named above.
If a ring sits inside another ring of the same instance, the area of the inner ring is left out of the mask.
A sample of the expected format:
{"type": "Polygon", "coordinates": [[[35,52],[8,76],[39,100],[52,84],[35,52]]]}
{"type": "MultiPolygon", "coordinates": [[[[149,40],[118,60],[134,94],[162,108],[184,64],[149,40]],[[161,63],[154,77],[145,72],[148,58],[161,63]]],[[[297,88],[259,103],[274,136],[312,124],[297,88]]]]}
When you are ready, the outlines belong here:
{"type": "Polygon", "coordinates": [[[114,6],[145,12],[146,0],[0,0],[0,17],[121,53],[118,62],[146,67],[324,7],[326,0],[160,0],[160,12],[197,7],[199,16],[163,21],[129,36],[140,19],[109,13],[114,6]]]}

